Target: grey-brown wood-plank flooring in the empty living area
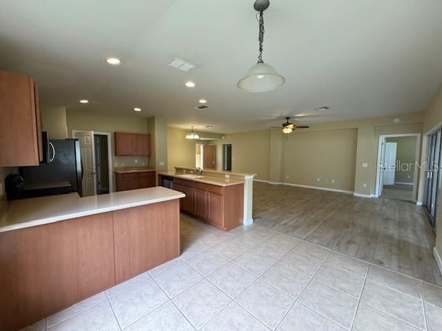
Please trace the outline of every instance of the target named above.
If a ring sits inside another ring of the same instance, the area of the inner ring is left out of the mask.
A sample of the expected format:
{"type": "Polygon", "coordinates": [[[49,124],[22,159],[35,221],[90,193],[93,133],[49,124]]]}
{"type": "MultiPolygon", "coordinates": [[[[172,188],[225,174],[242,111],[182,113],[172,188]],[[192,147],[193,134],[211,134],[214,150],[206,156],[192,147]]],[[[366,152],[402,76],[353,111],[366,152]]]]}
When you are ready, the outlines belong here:
{"type": "Polygon", "coordinates": [[[442,285],[436,239],[411,201],[253,183],[253,219],[272,230],[442,285]]]}

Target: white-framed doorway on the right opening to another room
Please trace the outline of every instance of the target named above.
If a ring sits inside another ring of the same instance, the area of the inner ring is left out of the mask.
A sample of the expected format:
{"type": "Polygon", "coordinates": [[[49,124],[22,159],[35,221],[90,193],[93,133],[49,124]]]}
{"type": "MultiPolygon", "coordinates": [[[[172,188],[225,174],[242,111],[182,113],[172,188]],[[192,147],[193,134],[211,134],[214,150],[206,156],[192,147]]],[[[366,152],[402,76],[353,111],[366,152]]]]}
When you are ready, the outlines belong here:
{"type": "Polygon", "coordinates": [[[376,197],[416,201],[421,134],[379,137],[376,197]]]}

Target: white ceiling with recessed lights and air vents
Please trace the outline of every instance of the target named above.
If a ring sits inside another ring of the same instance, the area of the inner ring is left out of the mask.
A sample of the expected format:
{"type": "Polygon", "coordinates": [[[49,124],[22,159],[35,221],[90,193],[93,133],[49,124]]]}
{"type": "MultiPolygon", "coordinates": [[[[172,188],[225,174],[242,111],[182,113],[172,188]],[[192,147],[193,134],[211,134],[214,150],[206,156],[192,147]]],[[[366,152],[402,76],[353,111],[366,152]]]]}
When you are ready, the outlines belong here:
{"type": "Polygon", "coordinates": [[[440,0],[271,0],[264,59],[287,83],[239,90],[258,55],[252,5],[0,0],[0,68],[35,77],[43,103],[126,114],[139,106],[140,116],[213,132],[268,128],[284,114],[311,114],[300,119],[308,124],[414,112],[442,82],[440,0]],[[110,56],[122,65],[104,63],[110,56]],[[198,68],[166,66],[172,57],[198,68]],[[195,88],[184,87],[189,79],[195,88]],[[201,98],[211,108],[195,110],[201,98]]]}

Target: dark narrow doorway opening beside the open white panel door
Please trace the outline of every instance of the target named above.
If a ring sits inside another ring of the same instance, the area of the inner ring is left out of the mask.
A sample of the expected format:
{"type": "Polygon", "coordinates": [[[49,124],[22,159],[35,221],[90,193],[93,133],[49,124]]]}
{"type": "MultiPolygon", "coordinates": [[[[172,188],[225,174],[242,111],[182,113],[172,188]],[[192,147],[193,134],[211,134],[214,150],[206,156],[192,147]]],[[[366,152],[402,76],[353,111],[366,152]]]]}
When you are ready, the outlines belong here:
{"type": "Polygon", "coordinates": [[[108,136],[94,134],[95,145],[95,185],[97,194],[109,193],[109,150],[108,136]]]}

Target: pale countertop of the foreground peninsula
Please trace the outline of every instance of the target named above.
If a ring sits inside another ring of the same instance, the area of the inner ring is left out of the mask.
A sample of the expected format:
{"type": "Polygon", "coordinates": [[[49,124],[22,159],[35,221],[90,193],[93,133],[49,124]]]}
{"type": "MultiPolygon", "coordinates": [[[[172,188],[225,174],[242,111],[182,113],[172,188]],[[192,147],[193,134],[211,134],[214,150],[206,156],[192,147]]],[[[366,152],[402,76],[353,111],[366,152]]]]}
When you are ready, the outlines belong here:
{"type": "Polygon", "coordinates": [[[182,192],[155,187],[84,198],[69,193],[8,201],[0,205],[0,232],[184,197],[182,192]]]}

